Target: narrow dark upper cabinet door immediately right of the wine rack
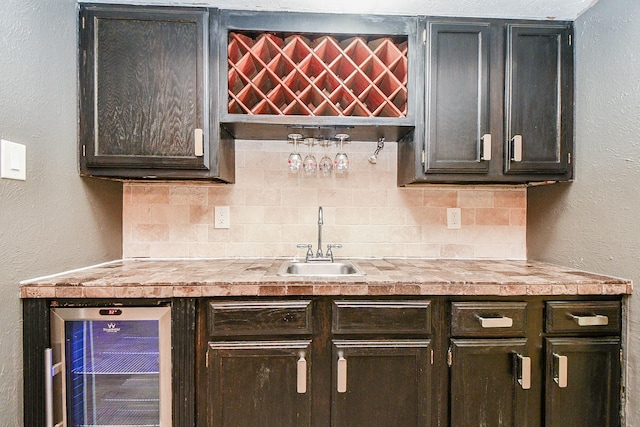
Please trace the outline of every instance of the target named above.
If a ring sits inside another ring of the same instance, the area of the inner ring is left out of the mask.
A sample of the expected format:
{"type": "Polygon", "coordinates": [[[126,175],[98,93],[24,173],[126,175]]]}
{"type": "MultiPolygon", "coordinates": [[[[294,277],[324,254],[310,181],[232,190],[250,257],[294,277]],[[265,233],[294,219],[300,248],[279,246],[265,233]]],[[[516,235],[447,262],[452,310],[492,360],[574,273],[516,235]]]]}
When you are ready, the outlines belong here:
{"type": "Polygon", "coordinates": [[[488,23],[427,24],[426,173],[488,173],[488,23]]]}

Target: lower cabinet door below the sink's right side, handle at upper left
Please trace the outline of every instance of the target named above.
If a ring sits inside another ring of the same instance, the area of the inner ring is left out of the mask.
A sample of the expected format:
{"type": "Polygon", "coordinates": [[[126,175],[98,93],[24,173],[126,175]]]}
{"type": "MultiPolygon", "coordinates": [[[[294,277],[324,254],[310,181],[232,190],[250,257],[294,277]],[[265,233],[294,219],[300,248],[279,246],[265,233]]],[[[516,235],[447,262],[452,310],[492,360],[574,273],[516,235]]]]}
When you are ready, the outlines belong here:
{"type": "Polygon", "coordinates": [[[332,427],[429,425],[429,340],[334,340],[332,355],[332,427]]]}

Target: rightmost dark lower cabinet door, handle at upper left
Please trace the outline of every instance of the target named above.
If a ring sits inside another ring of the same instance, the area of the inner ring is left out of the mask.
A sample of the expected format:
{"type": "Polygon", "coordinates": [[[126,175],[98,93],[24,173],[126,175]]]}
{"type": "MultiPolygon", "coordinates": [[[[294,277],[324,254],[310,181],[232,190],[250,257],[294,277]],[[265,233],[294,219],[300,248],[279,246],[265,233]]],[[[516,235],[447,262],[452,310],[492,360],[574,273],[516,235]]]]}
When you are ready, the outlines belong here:
{"type": "Polygon", "coordinates": [[[620,340],[547,338],[545,425],[620,425],[620,340]]]}

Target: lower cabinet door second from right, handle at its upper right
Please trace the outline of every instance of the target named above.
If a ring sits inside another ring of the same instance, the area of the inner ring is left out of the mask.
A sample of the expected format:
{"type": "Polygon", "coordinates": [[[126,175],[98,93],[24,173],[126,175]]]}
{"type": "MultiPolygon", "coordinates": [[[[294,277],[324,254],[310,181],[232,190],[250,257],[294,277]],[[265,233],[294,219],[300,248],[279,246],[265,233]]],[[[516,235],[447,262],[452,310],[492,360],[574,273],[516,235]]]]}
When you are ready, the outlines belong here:
{"type": "Polygon", "coordinates": [[[527,414],[531,381],[525,339],[452,339],[450,425],[538,425],[527,414]]]}

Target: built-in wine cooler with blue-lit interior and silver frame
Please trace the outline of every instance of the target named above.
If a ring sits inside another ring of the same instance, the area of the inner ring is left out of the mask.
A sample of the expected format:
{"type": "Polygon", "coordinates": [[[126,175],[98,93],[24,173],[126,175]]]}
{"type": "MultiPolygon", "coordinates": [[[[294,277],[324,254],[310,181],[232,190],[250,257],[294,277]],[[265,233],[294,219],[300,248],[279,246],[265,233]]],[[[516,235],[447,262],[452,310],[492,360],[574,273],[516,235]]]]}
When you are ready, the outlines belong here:
{"type": "Polygon", "coordinates": [[[170,307],[51,309],[47,427],[171,426],[170,307]]]}

